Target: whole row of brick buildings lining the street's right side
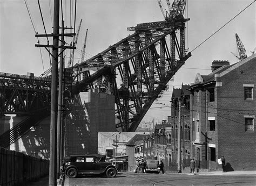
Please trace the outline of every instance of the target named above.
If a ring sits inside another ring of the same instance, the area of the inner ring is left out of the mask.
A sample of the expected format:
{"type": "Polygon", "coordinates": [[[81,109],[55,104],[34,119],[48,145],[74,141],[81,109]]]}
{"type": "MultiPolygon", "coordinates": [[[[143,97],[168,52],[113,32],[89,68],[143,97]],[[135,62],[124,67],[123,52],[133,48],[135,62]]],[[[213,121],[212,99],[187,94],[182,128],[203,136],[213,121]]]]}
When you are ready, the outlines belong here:
{"type": "Polygon", "coordinates": [[[233,65],[228,61],[213,61],[212,73],[198,73],[191,85],[173,88],[172,115],[156,125],[153,135],[151,151],[156,151],[157,158],[163,159],[166,166],[177,163],[178,99],[181,99],[183,167],[193,157],[197,167],[221,169],[217,160],[224,155],[229,171],[255,170],[255,62],[255,54],[233,65]]]}

